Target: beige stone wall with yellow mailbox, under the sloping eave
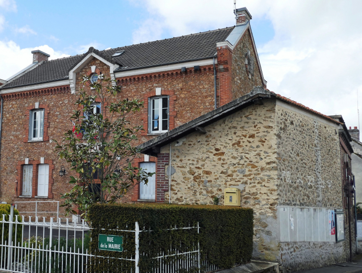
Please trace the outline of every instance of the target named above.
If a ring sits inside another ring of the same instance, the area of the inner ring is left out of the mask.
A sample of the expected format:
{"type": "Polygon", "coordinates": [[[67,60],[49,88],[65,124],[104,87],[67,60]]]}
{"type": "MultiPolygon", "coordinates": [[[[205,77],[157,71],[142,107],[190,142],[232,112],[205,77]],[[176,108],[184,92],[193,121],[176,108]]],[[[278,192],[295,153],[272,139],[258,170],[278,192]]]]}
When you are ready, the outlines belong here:
{"type": "MultiPolygon", "coordinates": [[[[276,260],[277,169],[275,102],[252,105],[172,143],[171,202],[213,204],[224,189],[241,189],[241,204],[254,209],[254,256],[276,260]]],[[[169,152],[169,145],[161,148],[169,152]]],[[[168,174],[168,172],[166,172],[168,174]]],[[[168,193],[165,199],[168,200],[168,193]]]]}

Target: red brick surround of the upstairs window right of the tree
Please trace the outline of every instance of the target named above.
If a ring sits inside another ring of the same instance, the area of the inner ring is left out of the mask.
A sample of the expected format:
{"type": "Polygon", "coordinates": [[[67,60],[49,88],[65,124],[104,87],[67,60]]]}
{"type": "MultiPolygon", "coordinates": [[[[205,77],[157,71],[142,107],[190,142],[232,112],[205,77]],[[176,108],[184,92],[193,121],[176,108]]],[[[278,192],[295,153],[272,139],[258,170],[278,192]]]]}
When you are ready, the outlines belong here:
{"type": "MultiPolygon", "coordinates": [[[[143,95],[142,100],[144,101],[143,110],[141,114],[141,120],[144,131],[141,131],[141,136],[147,136],[148,134],[148,98],[156,96],[156,89],[147,92],[143,95]]],[[[175,101],[177,100],[175,91],[161,88],[160,96],[169,96],[169,130],[175,128],[175,118],[177,111],[175,110],[175,101]]]]}

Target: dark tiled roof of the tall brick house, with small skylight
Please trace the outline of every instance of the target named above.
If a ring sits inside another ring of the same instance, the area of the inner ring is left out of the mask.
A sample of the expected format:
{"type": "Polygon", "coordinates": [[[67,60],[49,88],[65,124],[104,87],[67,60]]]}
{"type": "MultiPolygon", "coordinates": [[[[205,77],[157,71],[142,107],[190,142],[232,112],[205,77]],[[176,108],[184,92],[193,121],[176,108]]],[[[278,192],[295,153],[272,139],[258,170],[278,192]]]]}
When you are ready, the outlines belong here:
{"type": "Polygon", "coordinates": [[[9,80],[0,89],[67,79],[68,72],[89,52],[94,52],[107,61],[120,65],[116,71],[209,59],[216,52],[216,43],[225,41],[233,29],[234,27],[228,27],[103,51],[91,47],[82,55],[42,62],[35,68],[9,80]],[[115,52],[122,50],[124,53],[121,56],[112,57],[115,52]]]}

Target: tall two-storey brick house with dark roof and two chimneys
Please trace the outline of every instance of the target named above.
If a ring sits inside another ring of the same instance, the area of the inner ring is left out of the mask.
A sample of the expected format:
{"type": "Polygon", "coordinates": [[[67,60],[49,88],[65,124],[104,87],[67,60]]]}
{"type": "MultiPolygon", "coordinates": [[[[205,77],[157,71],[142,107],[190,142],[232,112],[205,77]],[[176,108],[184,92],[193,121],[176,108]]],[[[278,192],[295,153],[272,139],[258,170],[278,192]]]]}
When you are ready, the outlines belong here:
{"type": "MultiPolygon", "coordinates": [[[[60,140],[72,128],[69,118],[82,75],[93,80],[102,73],[121,86],[120,99],[145,101],[141,115],[132,120],[145,130],[138,136],[139,143],[229,103],[254,86],[266,87],[251,16],[246,8],[236,13],[234,27],[171,39],[103,51],[91,47],[85,54],[52,61],[48,54],[33,51],[33,64],[0,87],[0,201],[59,201],[60,194],[70,189],[70,173],[58,175],[62,165],[66,170],[69,166],[58,159],[51,139],[60,140]],[[156,110],[153,102],[167,108],[160,110],[160,126],[150,118],[156,110]]],[[[90,86],[85,90],[91,92],[90,86]]],[[[153,170],[157,158],[142,156],[133,164],[153,170]]],[[[148,186],[137,185],[128,200],[164,202],[164,191],[156,187],[157,176],[148,186]]]]}

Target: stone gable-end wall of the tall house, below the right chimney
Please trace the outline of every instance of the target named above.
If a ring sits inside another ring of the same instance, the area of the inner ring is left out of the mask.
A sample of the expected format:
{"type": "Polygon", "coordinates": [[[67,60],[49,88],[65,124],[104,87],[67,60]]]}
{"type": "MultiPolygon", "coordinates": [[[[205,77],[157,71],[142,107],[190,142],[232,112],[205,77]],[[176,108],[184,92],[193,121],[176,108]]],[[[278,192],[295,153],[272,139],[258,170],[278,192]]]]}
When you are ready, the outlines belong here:
{"type": "Polygon", "coordinates": [[[263,81],[257,59],[254,52],[254,47],[251,41],[249,30],[245,31],[239,41],[239,44],[234,48],[232,54],[232,92],[233,100],[249,93],[255,86],[262,86],[263,81]],[[250,56],[254,60],[254,75],[249,78],[245,67],[245,54],[250,51],[250,56]]]}

